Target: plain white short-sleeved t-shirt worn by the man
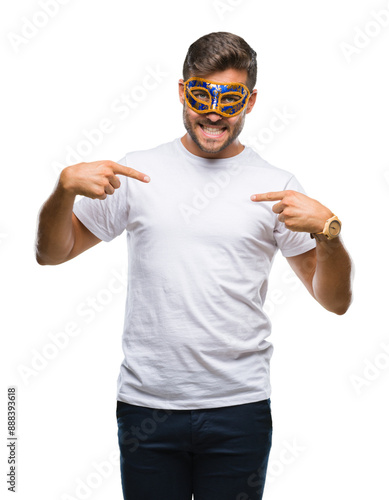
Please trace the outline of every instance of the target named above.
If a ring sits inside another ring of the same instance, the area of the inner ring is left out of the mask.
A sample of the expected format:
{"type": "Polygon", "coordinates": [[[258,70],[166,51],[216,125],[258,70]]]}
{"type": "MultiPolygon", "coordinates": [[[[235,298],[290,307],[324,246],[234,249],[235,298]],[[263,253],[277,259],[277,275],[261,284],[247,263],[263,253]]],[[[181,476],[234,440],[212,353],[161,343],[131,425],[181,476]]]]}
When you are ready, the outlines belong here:
{"type": "Polygon", "coordinates": [[[103,201],[82,198],[77,218],[98,238],[127,231],[124,360],[117,399],[151,408],[201,409],[270,396],[271,324],[263,311],[278,249],[315,247],[254,193],[304,192],[252,148],[226,159],[193,155],[180,139],[118,163],[151,178],[119,176],[103,201]]]}

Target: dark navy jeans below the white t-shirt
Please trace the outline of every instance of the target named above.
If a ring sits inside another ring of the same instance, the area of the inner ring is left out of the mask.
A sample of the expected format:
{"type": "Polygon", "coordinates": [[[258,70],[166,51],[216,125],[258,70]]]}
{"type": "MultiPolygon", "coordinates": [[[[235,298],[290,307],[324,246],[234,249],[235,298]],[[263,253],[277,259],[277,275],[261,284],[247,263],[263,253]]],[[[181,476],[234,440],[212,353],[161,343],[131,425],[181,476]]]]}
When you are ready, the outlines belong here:
{"type": "Polygon", "coordinates": [[[260,500],[270,399],[202,410],[117,402],[124,500],[260,500]]]}

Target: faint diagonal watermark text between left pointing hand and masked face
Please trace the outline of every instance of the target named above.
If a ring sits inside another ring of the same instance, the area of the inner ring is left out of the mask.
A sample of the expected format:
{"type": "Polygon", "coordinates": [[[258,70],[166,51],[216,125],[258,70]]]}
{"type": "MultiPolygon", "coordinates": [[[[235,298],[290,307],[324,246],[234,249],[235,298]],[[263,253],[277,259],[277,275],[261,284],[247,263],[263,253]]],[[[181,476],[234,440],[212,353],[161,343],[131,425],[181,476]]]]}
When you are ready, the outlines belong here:
{"type": "MultiPolygon", "coordinates": [[[[157,89],[168,76],[166,71],[162,71],[160,65],[154,67],[146,66],[145,75],[139,85],[132,86],[127,93],[123,93],[116,98],[109,106],[110,111],[119,120],[125,120],[131,110],[139,107],[150,95],[150,92],[157,89]]],[[[104,138],[115,132],[115,119],[108,116],[103,117],[96,127],[83,129],[81,138],[75,145],[67,145],[65,148],[65,161],[63,163],[54,161],[52,168],[55,175],[58,175],[68,165],[74,165],[85,161],[95,148],[100,146],[104,138]]]]}

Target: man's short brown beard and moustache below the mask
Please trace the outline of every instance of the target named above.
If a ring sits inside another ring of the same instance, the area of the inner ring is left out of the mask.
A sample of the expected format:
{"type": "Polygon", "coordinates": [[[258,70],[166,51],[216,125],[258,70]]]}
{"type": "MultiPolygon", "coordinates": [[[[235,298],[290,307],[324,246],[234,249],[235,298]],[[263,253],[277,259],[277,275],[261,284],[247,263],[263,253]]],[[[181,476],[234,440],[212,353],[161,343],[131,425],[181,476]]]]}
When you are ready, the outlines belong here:
{"type": "Polygon", "coordinates": [[[228,147],[230,144],[232,144],[240,135],[240,133],[243,130],[244,122],[245,122],[245,115],[246,115],[246,110],[244,109],[242,113],[239,116],[239,119],[235,122],[234,125],[230,125],[228,123],[228,118],[227,120],[220,120],[218,122],[211,122],[210,120],[207,120],[206,115],[201,115],[200,113],[197,113],[198,119],[192,119],[189,116],[188,113],[188,108],[185,106],[183,108],[183,121],[184,121],[184,127],[186,131],[188,132],[189,136],[191,137],[192,141],[196,144],[197,147],[201,149],[204,153],[219,153],[226,147],[228,147]],[[218,127],[223,127],[227,130],[227,136],[223,140],[223,142],[220,142],[219,140],[215,139],[212,140],[210,138],[207,138],[206,140],[203,141],[200,140],[199,134],[201,132],[196,133],[196,128],[199,128],[201,125],[208,126],[208,125],[217,125],[218,127]]]}

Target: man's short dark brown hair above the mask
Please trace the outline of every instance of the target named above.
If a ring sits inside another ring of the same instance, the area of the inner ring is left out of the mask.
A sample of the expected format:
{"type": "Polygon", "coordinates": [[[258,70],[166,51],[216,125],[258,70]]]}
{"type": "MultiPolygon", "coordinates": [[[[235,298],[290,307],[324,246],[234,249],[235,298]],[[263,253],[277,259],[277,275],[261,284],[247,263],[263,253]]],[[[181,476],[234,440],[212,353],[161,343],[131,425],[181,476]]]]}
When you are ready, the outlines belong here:
{"type": "Polygon", "coordinates": [[[219,31],[196,40],[188,49],[183,67],[184,81],[229,68],[247,71],[250,92],[257,81],[257,53],[238,35],[219,31]]]}

